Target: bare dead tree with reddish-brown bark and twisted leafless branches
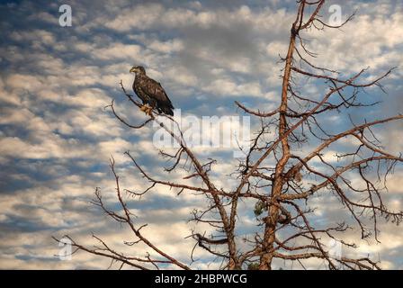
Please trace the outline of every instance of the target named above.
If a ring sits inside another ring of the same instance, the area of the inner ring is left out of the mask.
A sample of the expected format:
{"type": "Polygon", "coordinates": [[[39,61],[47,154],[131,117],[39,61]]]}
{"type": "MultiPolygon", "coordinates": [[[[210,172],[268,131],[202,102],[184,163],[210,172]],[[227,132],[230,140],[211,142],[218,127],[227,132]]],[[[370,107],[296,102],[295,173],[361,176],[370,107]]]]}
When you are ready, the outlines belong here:
{"type": "MultiPolygon", "coordinates": [[[[366,69],[343,78],[336,70],[312,63],[311,58],[316,55],[306,45],[302,38],[303,33],[313,29],[338,29],[350,22],[354,15],[340,26],[331,26],[322,21],[319,15],[325,0],[300,0],[297,4],[298,11],[295,21],[291,24],[288,52],[286,57],[282,58],[284,68],[279,107],[272,112],[262,112],[236,103],[241,111],[261,123],[255,138],[251,139],[245,160],[234,167],[237,188],[217,188],[210,179],[210,168],[214,161],[201,160],[187,146],[180,130],[175,132],[160,123],[179,144],[173,154],[161,151],[161,156],[169,158],[173,163],[166,171],[180,169],[186,158],[191,169],[184,180],[198,179],[201,184],[182,184],[157,179],[148,175],[130,152],[127,152],[126,155],[130,157],[139,174],[150,183],[149,187],[140,192],[122,190],[112,160],[117,197],[123,213],[107,209],[98,189],[94,200],[94,204],[113,220],[126,224],[133,232],[136,239],[125,242],[127,245],[143,243],[157,257],[126,256],[95,236],[101,243],[100,247],[85,247],[71,239],[76,250],[109,257],[112,263],[139,269],[159,268],[166,264],[190,269],[192,262],[180,262],[143,236],[141,229],[147,224],[136,223],[122,198],[122,193],[130,193],[140,201],[141,195],[152,193],[156,185],[162,185],[167,189],[176,189],[178,197],[181,193],[197,193],[201,197],[207,197],[210,205],[203,211],[193,211],[192,220],[196,223],[208,223],[214,232],[207,236],[203,231],[192,231],[189,239],[194,241],[193,250],[198,247],[220,259],[222,269],[269,270],[273,268],[275,259],[296,262],[302,268],[305,268],[304,261],[318,259],[326,263],[329,269],[380,269],[379,263],[370,257],[332,257],[327,241],[333,239],[342,243],[343,247],[354,248],[354,243],[342,237],[347,229],[357,228],[361,238],[374,238],[378,241],[380,219],[391,220],[396,224],[402,220],[403,212],[390,211],[382,201],[382,194],[387,189],[387,176],[403,158],[382,148],[374,128],[390,121],[399,121],[403,115],[398,114],[377,121],[363,121],[359,124],[351,121],[351,128],[337,133],[333,128],[323,125],[323,116],[330,112],[345,112],[351,108],[376,104],[362,103],[360,92],[371,86],[379,86],[382,89],[381,80],[388,76],[392,69],[365,82],[363,75],[366,69]],[[323,81],[327,88],[318,97],[304,96],[297,84],[303,77],[323,81]],[[274,139],[267,140],[269,130],[275,130],[274,139]],[[337,155],[337,164],[328,161],[324,157],[327,148],[343,139],[354,139],[358,141],[358,145],[352,151],[337,155]],[[309,151],[300,155],[297,152],[300,147],[306,147],[309,151]],[[357,177],[358,181],[351,181],[351,175],[357,177]],[[351,216],[353,221],[341,220],[331,226],[318,227],[312,220],[313,209],[309,201],[313,197],[324,195],[336,198],[342,204],[340,213],[351,216]],[[255,202],[255,214],[263,228],[255,232],[255,235],[245,237],[246,245],[242,246],[238,241],[240,236],[236,233],[238,203],[241,200],[255,202]],[[371,225],[367,220],[370,220],[371,225]]],[[[122,85],[121,88],[130,102],[139,106],[122,85]]],[[[150,121],[159,121],[153,114],[148,121],[132,125],[121,118],[113,103],[110,107],[114,116],[131,129],[142,129],[150,121]]],[[[167,118],[175,121],[169,116],[167,118]]],[[[190,254],[193,261],[193,251],[190,251],[190,254]]]]}

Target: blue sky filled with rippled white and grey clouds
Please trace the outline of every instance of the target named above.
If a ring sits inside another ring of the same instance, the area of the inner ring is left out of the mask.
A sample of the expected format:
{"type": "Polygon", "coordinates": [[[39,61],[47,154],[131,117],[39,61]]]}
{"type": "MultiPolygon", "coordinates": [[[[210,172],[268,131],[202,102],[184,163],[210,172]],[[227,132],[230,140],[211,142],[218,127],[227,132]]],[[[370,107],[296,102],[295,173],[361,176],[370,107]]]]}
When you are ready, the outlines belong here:
{"type": "MultiPolygon", "coordinates": [[[[377,89],[364,94],[382,103],[354,112],[354,121],[402,112],[403,4],[392,0],[331,4],[340,4],[344,17],[355,10],[357,16],[342,31],[305,35],[319,54],[316,63],[345,75],[371,67],[368,78],[400,67],[383,82],[388,94],[377,89]]],[[[114,100],[126,119],[133,123],[145,119],[128,105],[120,80],[131,90],[129,69],[143,65],[185,116],[241,114],[234,101],[270,111],[279,100],[279,55],[286,53],[294,15],[294,0],[2,1],[0,268],[106,268],[109,261],[85,253],[60,260],[54,256],[59,247],[51,236],[69,234],[94,244],[94,232],[117,248],[130,240],[129,230],[89,203],[95,187],[111,205],[116,201],[108,166],[111,156],[128,189],[140,189],[144,180],[123,156],[127,150],[148,170],[166,177],[164,161],[157,160],[152,148],[156,128],[128,130],[104,109],[114,100]],[[59,25],[61,4],[72,8],[71,27],[59,25]]],[[[322,15],[325,20],[330,16],[328,4],[322,15]]],[[[315,94],[320,87],[310,83],[305,89],[315,94]]],[[[349,127],[345,117],[331,118],[335,130],[349,127]]],[[[379,131],[384,146],[394,153],[403,150],[402,128],[393,124],[379,131]]],[[[214,166],[218,187],[230,183],[226,176],[234,161],[228,151],[199,149],[198,155],[218,160],[214,166]]],[[[395,210],[403,210],[402,172],[396,169],[386,197],[395,210]]],[[[316,203],[320,220],[338,218],[341,210],[336,202],[316,203]]],[[[140,202],[130,202],[130,208],[139,222],[148,222],[146,233],[157,245],[189,263],[193,241],[184,237],[193,226],[186,220],[203,204],[192,194],[177,196],[157,187],[140,202]]],[[[241,207],[245,212],[240,212],[239,237],[257,223],[247,212],[251,207],[253,203],[241,207]]],[[[359,242],[357,253],[380,258],[385,268],[402,269],[402,229],[381,223],[381,231],[381,244],[359,242]]],[[[203,257],[202,251],[196,255],[203,257]]],[[[199,261],[193,267],[209,266],[199,261]]]]}

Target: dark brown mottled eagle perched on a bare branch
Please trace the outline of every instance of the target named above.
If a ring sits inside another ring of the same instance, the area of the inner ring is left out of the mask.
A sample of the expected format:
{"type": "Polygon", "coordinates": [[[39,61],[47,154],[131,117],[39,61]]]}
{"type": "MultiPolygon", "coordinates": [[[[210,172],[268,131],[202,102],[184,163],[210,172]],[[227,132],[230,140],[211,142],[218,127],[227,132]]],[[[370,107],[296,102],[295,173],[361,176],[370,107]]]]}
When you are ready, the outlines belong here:
{"type": "Polygon", "coordinates": [[[153,109],[160,113],[174,116],[174,106],[166,95],[164,88],[154,79],[146,75],[146,69],[141,66],[131,67],[130,73],[136,75],[133,82],[133,90],[143,102],[141,111],[151,114],[153,109]]]}

